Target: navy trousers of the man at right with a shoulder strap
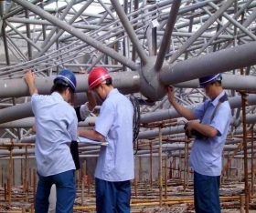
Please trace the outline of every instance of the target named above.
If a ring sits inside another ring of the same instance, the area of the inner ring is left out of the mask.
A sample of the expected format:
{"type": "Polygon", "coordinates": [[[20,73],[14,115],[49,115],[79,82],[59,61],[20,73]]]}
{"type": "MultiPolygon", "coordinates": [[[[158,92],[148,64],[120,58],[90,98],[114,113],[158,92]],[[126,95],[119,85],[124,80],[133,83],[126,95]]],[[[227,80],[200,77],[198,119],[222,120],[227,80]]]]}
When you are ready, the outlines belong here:
{"type": "Polygon", "coordinates": [[[219,176],[204,176],[194,171],[194,202],[197,213],[220,213],[219,176]]]}

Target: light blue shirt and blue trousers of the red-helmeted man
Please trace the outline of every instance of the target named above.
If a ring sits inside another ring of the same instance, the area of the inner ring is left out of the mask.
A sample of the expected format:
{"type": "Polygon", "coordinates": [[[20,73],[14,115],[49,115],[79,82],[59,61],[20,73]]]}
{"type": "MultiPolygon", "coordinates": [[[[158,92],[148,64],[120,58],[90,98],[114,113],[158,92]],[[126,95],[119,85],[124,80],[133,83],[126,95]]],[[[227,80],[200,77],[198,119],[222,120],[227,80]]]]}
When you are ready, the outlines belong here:
{"type": "Polygon", "coordinates": [[[133,162],[133,105],[112,89],[101,106],[95,131],[109,142],[95,170],[97,212],[130,212],[133,162]]]}

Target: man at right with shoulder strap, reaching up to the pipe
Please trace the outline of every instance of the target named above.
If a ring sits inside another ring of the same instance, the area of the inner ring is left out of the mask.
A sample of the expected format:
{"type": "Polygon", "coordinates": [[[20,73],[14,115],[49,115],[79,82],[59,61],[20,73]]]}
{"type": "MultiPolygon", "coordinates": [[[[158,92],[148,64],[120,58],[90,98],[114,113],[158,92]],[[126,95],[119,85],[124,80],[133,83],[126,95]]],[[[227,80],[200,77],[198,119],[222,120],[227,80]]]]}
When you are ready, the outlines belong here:
{"type": "Polygon", "coordinates": [[[229,101],[221,80],[221,74],[199,78],[200,87],[205,89],[209,99],[194,110],[179,105],[174,98],[174,87],[167,88],[170,104],[180,116],[191,120],[187,123],[187,136],[196,137],[189,157],[189,167],[194,170],[197,213],[220,213],[221,154],[230,123],[229,101]]]}

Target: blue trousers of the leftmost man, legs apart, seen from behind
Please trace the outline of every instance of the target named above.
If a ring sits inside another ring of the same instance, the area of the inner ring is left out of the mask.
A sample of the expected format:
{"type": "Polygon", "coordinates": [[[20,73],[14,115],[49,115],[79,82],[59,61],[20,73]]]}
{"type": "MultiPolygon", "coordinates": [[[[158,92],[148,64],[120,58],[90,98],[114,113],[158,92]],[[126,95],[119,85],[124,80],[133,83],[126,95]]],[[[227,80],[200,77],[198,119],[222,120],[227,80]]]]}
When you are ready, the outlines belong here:
{"type": "Polygon", "coordinates": [[[56,185],[57,204],[56,213],[73,212],[73,205],[76,198],[75,171],[69,170],[57,175],[39,177],[36,195],[36,213],[48,213],[48,197],[50,188],[56,185]]]}

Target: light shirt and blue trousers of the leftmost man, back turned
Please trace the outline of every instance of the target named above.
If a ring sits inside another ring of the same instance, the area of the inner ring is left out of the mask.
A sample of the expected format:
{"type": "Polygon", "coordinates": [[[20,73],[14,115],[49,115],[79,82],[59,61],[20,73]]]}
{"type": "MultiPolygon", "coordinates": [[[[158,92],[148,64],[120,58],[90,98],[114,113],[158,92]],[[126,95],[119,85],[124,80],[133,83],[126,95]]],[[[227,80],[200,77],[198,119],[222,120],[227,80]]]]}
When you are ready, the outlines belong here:
{"type": "Polygon", "coordinates": [[[76,111],[57,92],[50,96],[34,94],[31,104],[37,129],[35,155],[39,180],[36,213],[48,212],[52,184],[57,188],[56,212],[72,212],[76,197],[75,164],[69,145],[77,140],[76,111]]]}

